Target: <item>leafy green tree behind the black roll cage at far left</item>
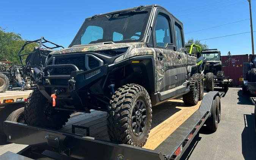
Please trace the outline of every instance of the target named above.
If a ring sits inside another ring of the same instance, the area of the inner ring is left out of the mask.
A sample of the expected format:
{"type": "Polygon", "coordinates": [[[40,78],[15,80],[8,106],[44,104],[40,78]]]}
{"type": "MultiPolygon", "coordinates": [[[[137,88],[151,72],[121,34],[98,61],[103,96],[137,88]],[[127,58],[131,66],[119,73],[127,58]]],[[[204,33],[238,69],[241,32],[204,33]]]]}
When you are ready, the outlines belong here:
{"type": "MultiPolygon", "coordinates": [[[[13,64],[21,64],[18,51],[26,41],[20,37],[20,34],[7,32],[0,27],[0,59],[8,59],[13,64]]],[[[31,43],[24,48],[22,53],[31,52],[36,46],[38,46],[36,43],[31,43]]],[[[23,59],[25,58],[24,56],[23,59]]]]}

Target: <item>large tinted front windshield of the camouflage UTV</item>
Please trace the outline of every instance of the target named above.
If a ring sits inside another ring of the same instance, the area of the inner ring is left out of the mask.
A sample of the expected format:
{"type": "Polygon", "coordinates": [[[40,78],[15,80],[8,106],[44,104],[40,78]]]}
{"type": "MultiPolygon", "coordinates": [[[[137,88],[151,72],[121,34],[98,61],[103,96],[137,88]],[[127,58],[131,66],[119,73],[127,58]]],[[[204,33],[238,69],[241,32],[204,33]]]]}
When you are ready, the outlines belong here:
{"type": "Polygon", "coordinates": [[[86,19],[69,45],[99,42],[137,42],[143,38],[149,17],[149,9],[125,11],[106,16],[86,19]]]}

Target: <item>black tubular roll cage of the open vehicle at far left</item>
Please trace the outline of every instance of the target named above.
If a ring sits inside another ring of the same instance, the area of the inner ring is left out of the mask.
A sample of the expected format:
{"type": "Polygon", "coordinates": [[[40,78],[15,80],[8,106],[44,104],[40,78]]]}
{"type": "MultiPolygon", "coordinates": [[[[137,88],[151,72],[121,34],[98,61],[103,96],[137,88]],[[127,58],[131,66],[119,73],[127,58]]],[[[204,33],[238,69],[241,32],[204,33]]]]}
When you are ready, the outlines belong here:
{"type": "Polygon", "coordinates": [[[37,40],[28,40],[24,43],[24,45],[20,48],[20,50],[18,52],[18,55],[20,57],[20,62],[21,62],[22,65],[23,65],[22,56],[36,53],[35,51],[33,51],[33,52],[30,52],[30,53],[21,54],[21,52],[24,50],[25,46],[30,44],[30,43],[38,43],[39,44],[38,45],[38,50],[39,50],[40,65],[42,65],[42,58],[41,58],[41,51],[40,51],[41,46],[44,46],[44,47],[49,48],[49,49],[54,49],[54,48],[59,48],[59,47],[64,48],[61,45],[57,45],[56,43],[53,43],[53,42],[50,42],[49,40],[44,39],[44,37],[41,37],[40,39],[37,39],[37,40]],[[44,45],[44,43],[47,43],[47,42],[53,44],[54,47],[48,47],[48,46],[44,45]]]}

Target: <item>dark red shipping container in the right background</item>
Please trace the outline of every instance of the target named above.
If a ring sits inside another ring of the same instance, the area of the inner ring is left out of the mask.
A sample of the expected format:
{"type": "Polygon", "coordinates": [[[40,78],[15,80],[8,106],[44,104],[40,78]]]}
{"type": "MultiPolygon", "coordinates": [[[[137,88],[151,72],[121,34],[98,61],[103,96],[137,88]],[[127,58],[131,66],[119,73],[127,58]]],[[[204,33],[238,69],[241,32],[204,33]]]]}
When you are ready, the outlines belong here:
{"type": "MultiPolygon", "coordinates": [[[[241,54],[232,55],[229,66],[222,66],[225,76],[229,76],[233,81],[230,85],[242,85],[243,84],[243,62],[249,62],[251,55],[241,54]]],[[[221,56],[222,65],[226,65],[228,56],[221,56]]]]}

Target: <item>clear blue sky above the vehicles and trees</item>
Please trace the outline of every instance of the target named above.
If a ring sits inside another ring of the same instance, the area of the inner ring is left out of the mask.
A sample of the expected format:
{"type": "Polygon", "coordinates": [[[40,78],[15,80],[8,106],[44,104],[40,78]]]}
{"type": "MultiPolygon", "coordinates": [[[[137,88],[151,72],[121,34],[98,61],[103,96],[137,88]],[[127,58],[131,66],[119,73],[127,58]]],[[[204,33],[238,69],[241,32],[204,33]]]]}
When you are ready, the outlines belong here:
{"type": "MultiPolygon", "coordinates": [[[[183,23],[186,42],[193,37],[209,48],[217,48],[222,55],[227,55],[228,51],[232,55],[251,54],[250,33],[209,39],[250,32],[247,0],[3,0],[0,26],[27,40],[44,36],[68,47],[86,17],[152,4],[163,6],[183,23]]],[[[256,31],[256,0],[251,0],[251,6],[253,30],[256,31]]]]}

